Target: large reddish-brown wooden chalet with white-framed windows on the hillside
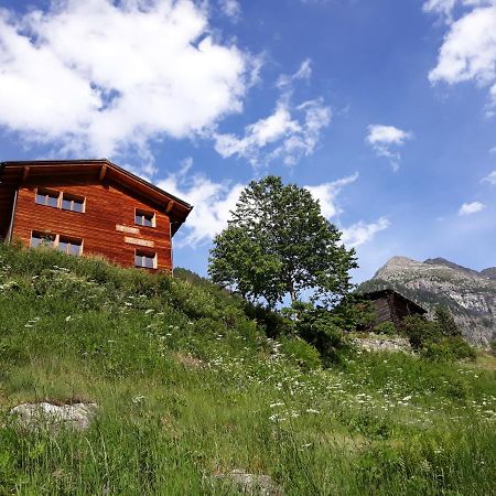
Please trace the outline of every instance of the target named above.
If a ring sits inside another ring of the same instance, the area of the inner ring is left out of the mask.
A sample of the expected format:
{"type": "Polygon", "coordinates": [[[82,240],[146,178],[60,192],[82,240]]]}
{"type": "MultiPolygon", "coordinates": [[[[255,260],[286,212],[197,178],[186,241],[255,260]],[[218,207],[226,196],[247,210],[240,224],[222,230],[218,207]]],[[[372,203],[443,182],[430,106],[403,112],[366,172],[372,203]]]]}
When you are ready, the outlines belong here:
{"type": "Polygon", "coordinates": [[[0,163],[7,242],[172,270],[172,237],[192,208],[106,159],[0,163]]]}

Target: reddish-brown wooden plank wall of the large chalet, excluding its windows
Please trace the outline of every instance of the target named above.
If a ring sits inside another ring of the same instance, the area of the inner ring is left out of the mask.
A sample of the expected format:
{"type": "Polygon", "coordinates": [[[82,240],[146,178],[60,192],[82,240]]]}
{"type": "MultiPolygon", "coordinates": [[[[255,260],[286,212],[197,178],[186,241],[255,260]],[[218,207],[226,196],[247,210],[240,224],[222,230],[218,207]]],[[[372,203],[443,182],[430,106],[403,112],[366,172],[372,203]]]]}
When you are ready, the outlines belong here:
{"type": "Polygon", "coordinates": [[[21,239],[29,246],[33,230],[80,238],[84,242],[83,255],[103,255],[125,267],[134,266],[137,249],[157,252],[157,268],[172,269],[171,226],[165,207],[159,208],[158,205],[133,197],[128,190],[120,188],[116,184],[105,182],[88,184],[71,180],[64,180],[62,184],[54,182],[43,184],[40,181],[36,184],[24,184],[19,188],[12,239],[21,239]],[[85,197],[85,213],[37,205],[36,187],[43,185],[85,197]],[[154,212],[157,226],[136,225],[136,208],[154,212]],[[118,230],[121,226],[125,229],[130,228],[130,231],[118,230]],[[152,246],[141,246],[140,242],[152,246]]]}

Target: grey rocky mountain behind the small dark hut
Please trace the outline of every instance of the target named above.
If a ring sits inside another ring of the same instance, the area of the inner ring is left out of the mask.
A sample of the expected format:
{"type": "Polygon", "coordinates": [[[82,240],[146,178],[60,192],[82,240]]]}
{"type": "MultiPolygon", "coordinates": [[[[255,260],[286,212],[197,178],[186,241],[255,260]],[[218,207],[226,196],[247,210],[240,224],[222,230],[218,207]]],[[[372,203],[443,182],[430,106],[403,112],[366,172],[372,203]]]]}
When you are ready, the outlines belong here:
{"type": "Polygon", "coordinates": [[[496,267],[482,271],[443,258],[423,262],[392,257],[359,291],[392,288],[430,312],[450,308],[465,337],[488,346],[496,338],[496,267]]]}

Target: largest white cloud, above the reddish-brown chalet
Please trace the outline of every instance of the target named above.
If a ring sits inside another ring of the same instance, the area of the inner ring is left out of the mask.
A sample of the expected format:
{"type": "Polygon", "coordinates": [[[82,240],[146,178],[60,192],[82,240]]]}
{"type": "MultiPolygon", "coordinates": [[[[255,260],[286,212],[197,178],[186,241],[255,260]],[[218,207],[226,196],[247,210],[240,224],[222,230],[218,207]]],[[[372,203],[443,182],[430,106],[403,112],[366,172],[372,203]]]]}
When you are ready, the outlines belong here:
{"type": "Polygon", "coordinates": [[[62,140],[67,153],[150,160],[151,139],[192,137],[242,108],[254,58],[209,32],[192,0],[1,10],[0,125],[26,141],[62,140]]]}

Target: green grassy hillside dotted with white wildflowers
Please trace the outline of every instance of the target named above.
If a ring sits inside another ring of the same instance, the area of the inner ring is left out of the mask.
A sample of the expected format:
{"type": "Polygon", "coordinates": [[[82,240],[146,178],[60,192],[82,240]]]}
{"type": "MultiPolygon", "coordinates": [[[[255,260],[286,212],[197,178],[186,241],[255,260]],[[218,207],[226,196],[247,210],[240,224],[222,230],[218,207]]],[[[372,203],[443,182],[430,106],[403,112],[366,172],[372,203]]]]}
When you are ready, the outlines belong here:
{"type": "Polygon", "coordinates": [[[287,495],[496,494],[494,358],[323,370],[185,279],[0,246],[0,494],[230,495],[212,476],[237,468],[287,495]],[[41,399],[99,413],[84,433],[12,423],[41,399]]]}

